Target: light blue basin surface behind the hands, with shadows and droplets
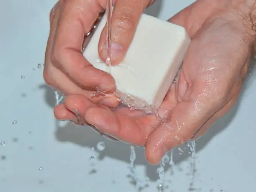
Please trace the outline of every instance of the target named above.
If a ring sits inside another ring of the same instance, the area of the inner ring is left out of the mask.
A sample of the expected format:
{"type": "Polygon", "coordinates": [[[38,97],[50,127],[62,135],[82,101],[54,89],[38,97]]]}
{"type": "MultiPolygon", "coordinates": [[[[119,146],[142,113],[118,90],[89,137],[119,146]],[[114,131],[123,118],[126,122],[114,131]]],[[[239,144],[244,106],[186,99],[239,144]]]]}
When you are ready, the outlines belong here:
{"type": "MultiPolygon", "coordinates": [[[[55,0],[8,0],[0,6],[0,192],[135,192],[127,177],[130,147],[108,141],[87,127],[61,127],[53,116],[54,93],[42,69],[49,33],[49,11],[55,0]],[[25,79],[21,79],[24,75],[25,79]],[[15,125],[13,120],[17,120],[15,125]],[[32,131],[30,134],[29,131],[32,131]],[[96,152],[99,141],[106,149],[96,152]],[[39,171],[39,167],[43,170],[39,171]],[[96,173],[92,170],[96,169],[96,173]]],[[[159,0],[147,13],[167,19],[192,0],[159,0]]],[[[256,81],[230,113],[197,141],[196,189],[253,192],[256,181],[256,81]]],[[[141,179],[157,179],[158,166],[149,165],[137,148],[141,179]]],[[[174,151],[174,174],[166,172],[171,192],[188,192],[191,159],[174,151]],[[172,182],[170,182],[170,180],[172,182]]],[[[143,192],[157,191],[154,182],[143,192]]]]}

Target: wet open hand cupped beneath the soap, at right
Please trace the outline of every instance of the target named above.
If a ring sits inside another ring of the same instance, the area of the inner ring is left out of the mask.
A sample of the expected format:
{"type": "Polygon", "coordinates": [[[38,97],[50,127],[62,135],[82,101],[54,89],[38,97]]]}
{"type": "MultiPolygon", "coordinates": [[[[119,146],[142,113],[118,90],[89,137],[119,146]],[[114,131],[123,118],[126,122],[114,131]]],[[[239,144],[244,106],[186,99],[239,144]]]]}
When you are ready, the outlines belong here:
{"type": "Polygon", "coordinates": [[[186,28],[192,42],[179,80],[159,108],[159,115],[166,121],[138,110],[110,110],[82,95],[67,97],[56,107],[56,118],[75,119],[70,112],[75,110],[101,131],[145,146],[146,158],[157,164],[170,149],[205,133],[235,103],[255,40],[252,26],[256,21],[251,19],[251,5],[244,2],[197,0],[170,19],[186,28]]]}

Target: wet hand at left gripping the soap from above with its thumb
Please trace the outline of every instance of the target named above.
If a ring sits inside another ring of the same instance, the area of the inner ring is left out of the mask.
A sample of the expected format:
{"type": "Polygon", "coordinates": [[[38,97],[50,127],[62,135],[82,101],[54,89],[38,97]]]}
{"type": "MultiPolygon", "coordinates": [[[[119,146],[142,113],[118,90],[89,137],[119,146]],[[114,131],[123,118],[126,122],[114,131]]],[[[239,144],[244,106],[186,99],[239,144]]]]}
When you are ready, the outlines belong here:
{"type": "MultiPolygon", "coordinates": [[[[143,10],[151,0],[113,0],[112,62],[123,59],[143,10]]],[[[106,72],[92,67],[82,55],[84,36],[91,30],[106,0],[60,0],[50,14],[50,35],[46,48],[44,79],[64,95],[81,94],[95,103],[116,107],[113,94],[91,97],[98,89],[115,90],[115,81],[106,72]]],[[[99,53],[105,57],[105,31],[99,42],[99,53]]]]}

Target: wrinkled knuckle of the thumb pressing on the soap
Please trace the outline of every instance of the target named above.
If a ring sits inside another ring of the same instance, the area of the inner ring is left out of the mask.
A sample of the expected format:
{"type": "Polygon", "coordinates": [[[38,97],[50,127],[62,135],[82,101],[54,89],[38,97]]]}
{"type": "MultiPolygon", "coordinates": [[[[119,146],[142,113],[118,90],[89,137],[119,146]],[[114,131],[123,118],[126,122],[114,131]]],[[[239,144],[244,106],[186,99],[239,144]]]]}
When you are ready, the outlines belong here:
{"type": "Polygon", "coordinates": [[[128,14],[123,14],[120,17],[113,18],[113,26],[116,28],[125,30],[125,31],[130,31],[133,30],[136,27],[135,21],[133,19],[132,15],[128,14]]]}

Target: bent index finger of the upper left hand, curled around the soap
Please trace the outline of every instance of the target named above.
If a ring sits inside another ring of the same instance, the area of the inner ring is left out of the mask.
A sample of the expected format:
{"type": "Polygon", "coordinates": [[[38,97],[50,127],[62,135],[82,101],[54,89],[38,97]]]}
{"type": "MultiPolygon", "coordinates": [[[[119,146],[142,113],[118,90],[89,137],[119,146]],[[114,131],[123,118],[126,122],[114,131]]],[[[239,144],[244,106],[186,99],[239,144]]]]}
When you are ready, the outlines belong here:
{"type": "Polygon", "coordinates": [[[82,55],[82,43],[99,12],[97,1],[66,1],[56,31],[51,61],[72,81],[87,90],[95,87],[114,90],[115,82],[110,74],[95,69],[82,55]]]}

